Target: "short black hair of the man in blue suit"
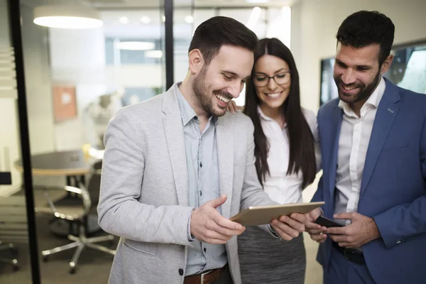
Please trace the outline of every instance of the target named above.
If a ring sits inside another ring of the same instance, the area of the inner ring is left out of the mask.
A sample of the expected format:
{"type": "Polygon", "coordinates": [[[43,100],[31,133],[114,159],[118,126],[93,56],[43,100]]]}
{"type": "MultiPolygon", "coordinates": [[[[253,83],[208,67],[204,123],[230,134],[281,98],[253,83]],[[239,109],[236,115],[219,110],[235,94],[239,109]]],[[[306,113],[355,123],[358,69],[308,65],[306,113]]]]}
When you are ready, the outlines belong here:
{"type": "Polygon", "coordinates": [[[342,45],[364,48],[380,44],[379,65],[391,54],[395,26],[390,18],[378,11],[358,11],[347,17],[337,31],[342,45]]]}

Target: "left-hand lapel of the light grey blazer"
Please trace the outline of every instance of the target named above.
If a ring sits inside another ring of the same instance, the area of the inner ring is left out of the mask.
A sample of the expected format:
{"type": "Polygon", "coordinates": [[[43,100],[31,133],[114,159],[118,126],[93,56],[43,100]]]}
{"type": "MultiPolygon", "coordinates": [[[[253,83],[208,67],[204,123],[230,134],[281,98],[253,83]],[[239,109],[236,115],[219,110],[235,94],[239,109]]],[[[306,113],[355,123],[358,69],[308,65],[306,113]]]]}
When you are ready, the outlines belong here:
{"type": "MultiPolygon", "coordinates": [[[[175,87],[175,86],[173,86],[175,87]]],[[[175,180],[176,193],[179,205],[188,206],[188,173],[185,156],[185,137],[183,134],[182,116],[176,94],[170,88],[163,99],[163,124],[165,138],[175,180]]]]}

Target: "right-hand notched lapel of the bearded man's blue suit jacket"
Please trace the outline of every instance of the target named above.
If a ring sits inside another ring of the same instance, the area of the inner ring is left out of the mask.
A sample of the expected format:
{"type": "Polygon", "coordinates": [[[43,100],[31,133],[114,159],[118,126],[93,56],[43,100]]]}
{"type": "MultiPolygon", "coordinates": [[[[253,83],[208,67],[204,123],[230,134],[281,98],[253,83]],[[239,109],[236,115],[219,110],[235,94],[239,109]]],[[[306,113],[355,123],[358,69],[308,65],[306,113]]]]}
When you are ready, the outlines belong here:
{"type": "Polygon", "coordinates": [[[383,94],[381,102],[378,104],[376,118],[374,119],[373,129],[371,131],[370,142],[366,153],[366,163],[364,165],[364,173],[361,180],[361,190],[359,195],[362,196],[366,190],[368,182],[373,174],[376,166],[378,155],[380,155],[383,145],[388,138],[389,131],[399,107],[396,104],[400,100],[397,87],[386,80],[386,90],[383,94]]]}

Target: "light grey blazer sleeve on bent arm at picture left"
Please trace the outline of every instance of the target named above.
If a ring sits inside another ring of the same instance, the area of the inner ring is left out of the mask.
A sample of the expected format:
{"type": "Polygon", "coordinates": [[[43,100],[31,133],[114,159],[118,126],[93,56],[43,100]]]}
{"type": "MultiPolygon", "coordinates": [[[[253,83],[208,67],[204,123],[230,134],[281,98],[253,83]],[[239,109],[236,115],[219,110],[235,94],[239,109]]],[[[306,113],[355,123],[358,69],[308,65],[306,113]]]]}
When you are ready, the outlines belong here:
{"type": "Polygon", "coordinates": [[[141,143],[131,114],[126,108],[119,110],[105,133],[99,225],[110,234],[134,241],[190,245],[191,207],[155,207],[138,200],[145,168],[141,143]]]}

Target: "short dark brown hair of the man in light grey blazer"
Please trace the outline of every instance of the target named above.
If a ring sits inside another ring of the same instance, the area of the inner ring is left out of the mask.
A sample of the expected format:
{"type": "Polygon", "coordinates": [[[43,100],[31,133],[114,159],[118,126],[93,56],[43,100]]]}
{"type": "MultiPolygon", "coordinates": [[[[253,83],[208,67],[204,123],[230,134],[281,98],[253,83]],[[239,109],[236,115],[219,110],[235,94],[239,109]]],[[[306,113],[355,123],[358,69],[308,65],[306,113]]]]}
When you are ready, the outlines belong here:
{"type": "Polygon", "coordinates": [[[209,65],[222,45],[234,45],[253,51],[258,38],[253,31],[234,18],[215,16],[197,27],[192,37],[190,49],[198,49],[209,65]]]}

